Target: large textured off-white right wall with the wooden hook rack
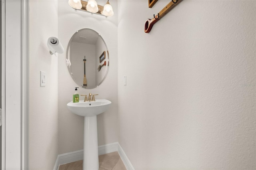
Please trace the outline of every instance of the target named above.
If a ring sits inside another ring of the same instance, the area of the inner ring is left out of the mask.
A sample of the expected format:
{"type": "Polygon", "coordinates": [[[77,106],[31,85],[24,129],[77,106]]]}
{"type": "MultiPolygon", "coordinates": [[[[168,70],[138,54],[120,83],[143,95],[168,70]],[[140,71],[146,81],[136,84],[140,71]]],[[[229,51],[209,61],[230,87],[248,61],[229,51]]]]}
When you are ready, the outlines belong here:
{"type": "Polygon", "coordinates": [[[256,169],[256,2],[184,0],[144,33],[168,2],[118,1],[124,152],[136,170],[256,169]]]}

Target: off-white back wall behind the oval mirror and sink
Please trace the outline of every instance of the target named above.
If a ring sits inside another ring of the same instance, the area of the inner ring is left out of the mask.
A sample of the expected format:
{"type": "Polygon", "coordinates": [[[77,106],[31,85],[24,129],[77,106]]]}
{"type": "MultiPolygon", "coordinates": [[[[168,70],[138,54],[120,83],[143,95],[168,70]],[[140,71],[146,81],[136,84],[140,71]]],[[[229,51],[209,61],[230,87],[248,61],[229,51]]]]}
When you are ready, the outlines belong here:
{"type": "MultiPolygon", "coordinates": [[[[106,1],[97,1],[104,5],[106,1]]],[[[66,48],[76,30],[90,28],[98,32],[105,40],[110,51],[110,67],[105,81],[94,89],[78,89],[80,94],[99,94],[96,99],[108,99],[112,105],[108,111],[97,116],[98,145],[118,141],[117,122],[117,2],[111,5],[116,12],[112,17],[99,16],[88,12],[74,10],[66,0],[58,1],[58,36],[64,46],[64,53],[58,57],[58,128],[59,154],[83,149],[84,118],[68,111],[66,104],[72,101],[77,84],[68,73],[66,66],[66,48]]],[[[86,76],[88,71],[86,71],[86,76]]]]}

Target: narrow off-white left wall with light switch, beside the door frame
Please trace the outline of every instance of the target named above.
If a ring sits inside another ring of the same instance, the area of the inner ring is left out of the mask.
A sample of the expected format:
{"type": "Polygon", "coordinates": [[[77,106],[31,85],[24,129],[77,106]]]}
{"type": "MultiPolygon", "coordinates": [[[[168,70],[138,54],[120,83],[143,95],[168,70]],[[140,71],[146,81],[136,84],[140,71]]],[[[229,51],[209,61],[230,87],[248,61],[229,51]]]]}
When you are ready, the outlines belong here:
{"type": "Polygon", "coordinates": [[[49,37],[58,38],[58,1],[30,0],[30,152],[31,170],[54,168],[58,156],[58,57],[49,37]],[[40,71],[46,86],[40,87],[40,71]]]}

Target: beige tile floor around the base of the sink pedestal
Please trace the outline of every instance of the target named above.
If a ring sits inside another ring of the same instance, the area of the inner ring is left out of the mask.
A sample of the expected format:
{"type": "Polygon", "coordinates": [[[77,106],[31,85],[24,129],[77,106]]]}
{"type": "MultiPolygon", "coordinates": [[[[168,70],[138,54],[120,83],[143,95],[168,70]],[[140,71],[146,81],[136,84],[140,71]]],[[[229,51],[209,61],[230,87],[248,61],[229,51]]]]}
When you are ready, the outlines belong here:
{"type": "MultiPolygon", "coordinates": [[[[99,170],[126,170],[118,152],[112,152],[99,156],[99,170]]],[[[68,164],[60,165],[59,170],[82,170],[83,161],[79,160],[68,164]]]]}

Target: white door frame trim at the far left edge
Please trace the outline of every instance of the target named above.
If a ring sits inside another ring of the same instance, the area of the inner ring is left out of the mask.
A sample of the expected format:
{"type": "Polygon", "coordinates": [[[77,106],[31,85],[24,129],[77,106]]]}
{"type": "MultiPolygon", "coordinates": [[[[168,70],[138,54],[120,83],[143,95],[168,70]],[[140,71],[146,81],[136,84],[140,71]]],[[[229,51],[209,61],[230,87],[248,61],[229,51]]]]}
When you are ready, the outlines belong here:
{"type": "Polygon", "coordinates": [[[2,169],[29,169],[29,0],[1,0],[2,169]]]}

